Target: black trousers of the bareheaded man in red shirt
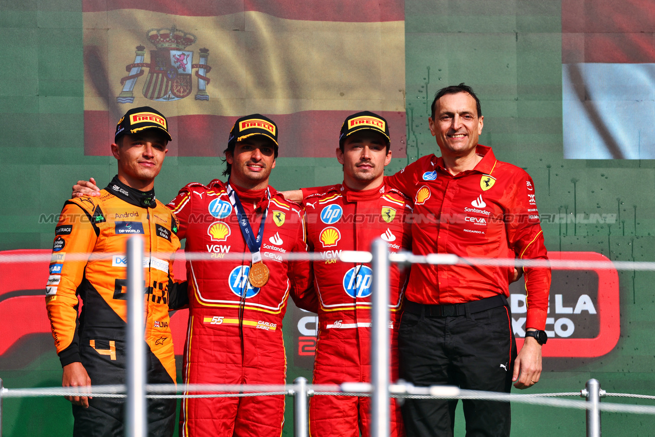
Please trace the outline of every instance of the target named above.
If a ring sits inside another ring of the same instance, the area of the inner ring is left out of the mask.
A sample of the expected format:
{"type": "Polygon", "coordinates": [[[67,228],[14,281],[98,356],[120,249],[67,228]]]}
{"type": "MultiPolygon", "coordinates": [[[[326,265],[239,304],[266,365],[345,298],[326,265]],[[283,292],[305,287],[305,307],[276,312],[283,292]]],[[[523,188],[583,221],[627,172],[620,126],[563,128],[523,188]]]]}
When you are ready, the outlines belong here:
{"type": "MultiPolygon", "coordinates": [[[[456,316],[402,315],[398,332],[400,377],[416,386],[509,393],[516,357],[506,306],[456,316]]],[[[509,402],[462,400],[466,437],[510,435],[509,402]]],[[[453,436],[457,400],[406,399],[407,436],[453,436]]]]}

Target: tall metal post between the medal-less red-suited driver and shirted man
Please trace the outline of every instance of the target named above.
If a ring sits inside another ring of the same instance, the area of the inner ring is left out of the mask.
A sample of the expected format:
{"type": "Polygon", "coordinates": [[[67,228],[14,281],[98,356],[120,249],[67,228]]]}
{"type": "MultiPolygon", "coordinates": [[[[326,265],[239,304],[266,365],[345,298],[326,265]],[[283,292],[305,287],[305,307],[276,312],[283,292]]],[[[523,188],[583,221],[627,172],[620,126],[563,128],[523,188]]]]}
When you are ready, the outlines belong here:
{"type": "Polygon", "coordinates": [[[373,254],[371,307],[371,437],[389,435],[389,253],[386,241],[376,239],[373,254]]]}

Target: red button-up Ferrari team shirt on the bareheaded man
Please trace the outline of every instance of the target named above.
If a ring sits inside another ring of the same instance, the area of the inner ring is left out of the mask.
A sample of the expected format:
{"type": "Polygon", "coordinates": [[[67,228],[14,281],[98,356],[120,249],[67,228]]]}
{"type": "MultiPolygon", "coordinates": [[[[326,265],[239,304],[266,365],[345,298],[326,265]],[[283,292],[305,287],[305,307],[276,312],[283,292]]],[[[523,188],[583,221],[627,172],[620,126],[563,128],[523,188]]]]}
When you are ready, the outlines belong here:
{"type": "MultiPolygon", "coordinates": [[[[434,154],[409,164],[385,183],[414,200],[412,251],[485,258],[548,259],[534,184],[523,169],[496,160],[478,145],[482,160],[453,176],[434,154]]],[[[412,266],[406,296],[421,304],[459,304],[509,296],[513,268],[412,266]]],[[[546,325],[550,268],[526,268],[527,328],[546,325]]]]}

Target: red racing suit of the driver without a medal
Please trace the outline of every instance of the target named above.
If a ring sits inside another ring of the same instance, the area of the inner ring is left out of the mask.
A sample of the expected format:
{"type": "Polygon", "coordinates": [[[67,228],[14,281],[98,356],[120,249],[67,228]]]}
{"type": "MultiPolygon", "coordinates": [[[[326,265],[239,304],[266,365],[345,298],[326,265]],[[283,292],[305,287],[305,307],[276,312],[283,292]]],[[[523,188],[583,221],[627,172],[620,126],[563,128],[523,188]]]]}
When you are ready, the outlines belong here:
{"type": "MultiPolygon", "coordinates": [[[[335,185],[303,201],[307,214],[307,242],[323,260],[314,261],[318,294],[318,341],[314,362],[315,384],[371,381],[371,268],[370,264],[337,260],[341,251],[370,251],[382,237],[389,250],[409,251],[411,228],[405,216],[411,203],[387,185],[355,191],[335,185]]],[[[398,322],[408,271],[392,264],[390,270],[391,379],[398,379],[398,322]]],[[[313,396],[310,435],[370,434],[371,398],[313,396]]],[[[400,408],[391,403],[391,435],[404,435],[400,408]]]]}

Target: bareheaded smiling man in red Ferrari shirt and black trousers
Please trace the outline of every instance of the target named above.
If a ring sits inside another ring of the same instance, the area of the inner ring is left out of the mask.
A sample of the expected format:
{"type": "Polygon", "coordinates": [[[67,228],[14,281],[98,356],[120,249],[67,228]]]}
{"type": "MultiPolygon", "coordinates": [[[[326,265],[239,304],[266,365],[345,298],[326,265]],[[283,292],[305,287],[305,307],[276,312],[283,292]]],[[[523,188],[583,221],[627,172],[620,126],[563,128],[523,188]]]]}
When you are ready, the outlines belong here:
{"type": "MultiPolygon", "coordinates": [[[[441,157],[423,156],[386,183],[413,198],[413,253],[546,260],[534,200],[523,169],[477,144],[480,103],[460,84],[437,92],[429,118],[441,157]]],[[[541,374],[550,269],[525,268],[527,334],[516,353],[506,297],[514,269],[412,266],[398,347],[400,377],[419,386],[509,392],[541,374]]],[[[464,400],[467,436],[509,436],[510,404],[464,400]]],[[[408,436],[452,436],[457,400],[407,399],[408,436]]]]}

